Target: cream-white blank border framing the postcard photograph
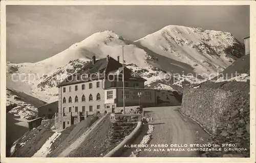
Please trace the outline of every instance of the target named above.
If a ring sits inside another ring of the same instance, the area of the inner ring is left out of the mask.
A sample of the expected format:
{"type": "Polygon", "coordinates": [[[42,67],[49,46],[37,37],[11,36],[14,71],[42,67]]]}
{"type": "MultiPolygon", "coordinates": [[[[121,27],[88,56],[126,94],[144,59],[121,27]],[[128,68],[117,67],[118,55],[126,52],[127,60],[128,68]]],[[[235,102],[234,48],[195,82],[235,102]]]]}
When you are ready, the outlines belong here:
{"type": "Polygon", "coordinates": [[[256,2],[255,1],[1,1],[1,162],[255,162],[256,103],[256,2]],[[250,5],[250,158],[203,157],[81,157],[10,158],[6,153],[6,5],[250,5]],[[254,61],[254,62],[253,62],[254,61]]]}

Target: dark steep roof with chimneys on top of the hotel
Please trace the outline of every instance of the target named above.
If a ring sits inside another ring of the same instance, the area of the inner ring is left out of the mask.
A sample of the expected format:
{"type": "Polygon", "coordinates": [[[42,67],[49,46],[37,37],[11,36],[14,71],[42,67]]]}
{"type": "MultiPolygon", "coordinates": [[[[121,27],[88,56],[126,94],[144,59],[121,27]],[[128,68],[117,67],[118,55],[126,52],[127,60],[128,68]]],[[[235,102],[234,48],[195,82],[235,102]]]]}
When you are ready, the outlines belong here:
{"type": "MultiPolygon", "coordinates": [[[[93,62],[88,62],[84,65],[83,68],[77,71],[77,73],[68,76],[64,79],[57,87],[67,86],[71,84],[89,82],[94,79],[105,78],[108,74],[115,74],[114,71],[119,70],[118,73],[122,72],[122,64],[109,57],[109,60],[106,58],[99,59],[93,62]],[[78,77],[78,78],[77,78],[78,77]]],[[[118,74],[116,74],[118,76],[118,74]]],[[[124,80],[140,80],[146,81],[146,79],[136,75],[130,69],[124,67],[124,80]]]]}

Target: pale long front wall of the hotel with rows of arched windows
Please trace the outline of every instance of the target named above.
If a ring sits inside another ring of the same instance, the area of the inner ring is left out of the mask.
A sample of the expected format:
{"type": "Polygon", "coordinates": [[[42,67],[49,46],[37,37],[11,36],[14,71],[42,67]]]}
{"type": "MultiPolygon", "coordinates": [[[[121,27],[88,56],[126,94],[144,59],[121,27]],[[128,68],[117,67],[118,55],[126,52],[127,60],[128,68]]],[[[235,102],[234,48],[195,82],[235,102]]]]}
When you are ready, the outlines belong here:
{"type": "Polygon", "coordinates": [[[59,113],[93,112],[104,109],[104,80],[59,88],[59,113]]]}

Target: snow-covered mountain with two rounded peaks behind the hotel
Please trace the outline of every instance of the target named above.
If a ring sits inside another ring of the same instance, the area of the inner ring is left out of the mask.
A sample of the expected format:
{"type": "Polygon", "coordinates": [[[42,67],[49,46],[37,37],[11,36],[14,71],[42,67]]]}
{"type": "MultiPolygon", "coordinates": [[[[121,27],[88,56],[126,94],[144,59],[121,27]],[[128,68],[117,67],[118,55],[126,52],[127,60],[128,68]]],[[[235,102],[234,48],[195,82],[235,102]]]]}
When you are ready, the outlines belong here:
{"type": "Polygon", "coordinates": [[[203,79],[244,55],[244,46],[227,32],[169,25],[133,42],[113,31],[102,31],[46,60],[7,63],[7,87],[53,102],[58,93],[55,86],[93,56],[120,56],[122,61],[122,45],[125,65],[147,79],[146,84],[166,78],[166,73],[200,74],[198,78],[203,79]]]}

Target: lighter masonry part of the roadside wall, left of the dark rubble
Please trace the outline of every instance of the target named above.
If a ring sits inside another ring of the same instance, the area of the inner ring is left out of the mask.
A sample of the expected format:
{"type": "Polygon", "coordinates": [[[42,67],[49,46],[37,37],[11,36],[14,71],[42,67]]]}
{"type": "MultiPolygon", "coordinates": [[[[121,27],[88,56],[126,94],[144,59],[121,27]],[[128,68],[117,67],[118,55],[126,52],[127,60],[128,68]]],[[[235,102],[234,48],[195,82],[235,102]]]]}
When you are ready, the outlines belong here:
{"type": "Polygon", "coordinates": [[[214,88],[184,88],[181,112],[216,132],[220,118],[231,102],[231,92],[214,88]]]}

